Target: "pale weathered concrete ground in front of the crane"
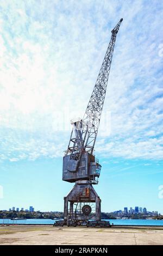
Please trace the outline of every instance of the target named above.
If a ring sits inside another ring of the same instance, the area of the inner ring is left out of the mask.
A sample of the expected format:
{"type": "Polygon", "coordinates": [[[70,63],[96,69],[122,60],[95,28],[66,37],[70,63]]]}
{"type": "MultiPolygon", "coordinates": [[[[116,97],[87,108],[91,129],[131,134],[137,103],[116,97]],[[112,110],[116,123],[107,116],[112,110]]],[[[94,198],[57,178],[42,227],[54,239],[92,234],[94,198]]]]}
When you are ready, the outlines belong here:
{"type": "Polygon", "coordinates": [[[0,225],[0,245],[163,245],[163,227],[0,225]]]}

